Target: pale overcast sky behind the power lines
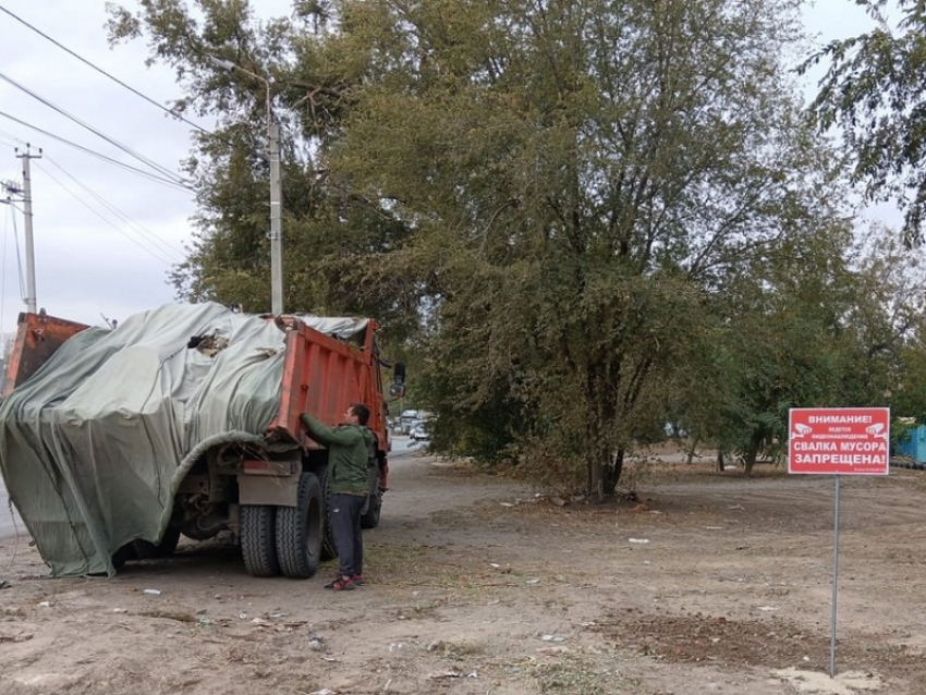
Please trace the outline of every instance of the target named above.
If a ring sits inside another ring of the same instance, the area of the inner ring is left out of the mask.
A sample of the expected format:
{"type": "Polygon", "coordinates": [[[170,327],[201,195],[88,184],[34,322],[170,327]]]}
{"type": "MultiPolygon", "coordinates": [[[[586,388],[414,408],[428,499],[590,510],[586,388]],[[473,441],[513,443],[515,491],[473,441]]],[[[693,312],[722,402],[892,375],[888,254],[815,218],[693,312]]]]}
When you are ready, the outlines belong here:
{"type": "MultiPolygon", "coordinates": [[[[123,4],[134,7],[132,0],[123,4]]],[[[260,0],[256,7],[263,16],[279,16],[288,14],[290,2],[260,0]]],[[[145,66],[144,41],[109,49],[103,0],[0,0],[0,8],[158,103],[180,96],[171,71],[145,66]]],[[[821,39],[858,34],[869,25],[852,0],[818,0],[805,16],[808,29],[821,39]]],[[[180,161],[191,146],[190,125],[170,119],[4,12],[0,12],[0,76],[173,176],[181,175],[180,161]]],[[[3,78],[0,112],[154,173],[3,78]]],[[[0,181],[22,182],[22,162],[14,148],[22,151],[25,143],[33,154],[41,148],[41,158],[32,160],[38,306],[56,316],[101,324],[101,315],[123,319],[173,301],[167,273],[183,257],[183,245],[190,240],[192,193],[107,163],[3,115],[0,181]]],[[[24,264],[22,212],[0,205],[0,332],[14,330],[16,316],[24,310],[20,289],[25,282],[20,272],[24,264]]]]}

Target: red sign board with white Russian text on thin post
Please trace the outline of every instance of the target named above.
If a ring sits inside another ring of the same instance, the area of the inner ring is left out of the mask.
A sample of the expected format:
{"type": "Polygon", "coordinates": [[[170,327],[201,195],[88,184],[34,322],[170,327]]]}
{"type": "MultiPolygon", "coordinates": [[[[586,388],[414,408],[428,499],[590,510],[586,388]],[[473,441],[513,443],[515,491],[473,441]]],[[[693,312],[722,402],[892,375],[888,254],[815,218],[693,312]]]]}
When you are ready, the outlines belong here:
{"type": "Polygon", "coordinates": [[[889,409],[793,407],[788,419],[788,473],[889,473],[889,409]]]}

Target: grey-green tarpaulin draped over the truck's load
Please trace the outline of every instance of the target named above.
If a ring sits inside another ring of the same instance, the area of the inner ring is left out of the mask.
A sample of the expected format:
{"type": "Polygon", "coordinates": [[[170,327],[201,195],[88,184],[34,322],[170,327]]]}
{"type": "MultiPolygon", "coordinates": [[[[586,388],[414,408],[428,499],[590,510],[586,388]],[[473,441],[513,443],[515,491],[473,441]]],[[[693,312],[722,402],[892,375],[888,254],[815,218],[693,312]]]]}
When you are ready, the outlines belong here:
{"type": "Polygon", "coordinates": [[[218,304],[168,305],[74,336],[5,399],[0,472],[53,575],[112,574],[120,547],[160,540],[205,449],[263,441],[284,340],[218,304]]]}

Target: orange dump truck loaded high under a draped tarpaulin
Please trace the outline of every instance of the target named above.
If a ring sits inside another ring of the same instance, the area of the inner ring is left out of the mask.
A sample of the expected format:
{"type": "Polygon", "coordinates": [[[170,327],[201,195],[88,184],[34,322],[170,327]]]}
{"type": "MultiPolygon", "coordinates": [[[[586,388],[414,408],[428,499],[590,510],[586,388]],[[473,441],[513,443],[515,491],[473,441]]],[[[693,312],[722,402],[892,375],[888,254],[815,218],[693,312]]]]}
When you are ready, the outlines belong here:
{"type": "MultiPolygon", "coordinates": [[[[352,403],[376,443],[363,526],[389,485],[387,394],[373,319],[171,304],[115,328],[22,314],[0,404],[0,472],[54,576],[236,541],[248,573],[312,576],[334,548],[329,425],[352,403]]],[[[404,369],[390,391],[401,395],[404,369]]]]}

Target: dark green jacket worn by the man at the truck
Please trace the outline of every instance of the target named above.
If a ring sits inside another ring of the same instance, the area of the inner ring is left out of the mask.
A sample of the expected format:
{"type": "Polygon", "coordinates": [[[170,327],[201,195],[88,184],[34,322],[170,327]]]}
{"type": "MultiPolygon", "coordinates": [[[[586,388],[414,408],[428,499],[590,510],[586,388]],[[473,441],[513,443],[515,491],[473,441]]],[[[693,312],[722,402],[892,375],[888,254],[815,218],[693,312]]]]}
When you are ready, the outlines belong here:
{"type": "Polygon", "coordinates": [[[363,425],[326,427],[308,413],[302,414],[305,431],[328,447],[328,489],[332,492],[369,492],[367,464],[375,438],[363,425]]]}

